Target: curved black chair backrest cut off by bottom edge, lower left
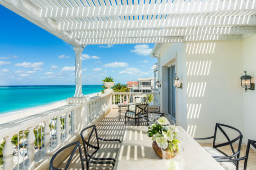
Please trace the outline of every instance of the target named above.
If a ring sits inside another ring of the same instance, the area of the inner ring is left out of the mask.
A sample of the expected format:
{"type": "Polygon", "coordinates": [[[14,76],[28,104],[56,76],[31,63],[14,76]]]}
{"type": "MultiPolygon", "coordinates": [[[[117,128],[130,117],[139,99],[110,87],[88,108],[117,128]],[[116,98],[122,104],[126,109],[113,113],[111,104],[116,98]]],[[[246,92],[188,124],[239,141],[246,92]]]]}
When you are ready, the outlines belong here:
{"type": "MultiPolygon", "coordinates": [[[[74,145],[74,148],[73,148],[73,150],[72,150],[72,152],[71,152],[71,154],[70,154],[70,156],[69,156],[69,158],[68,158],[68,161],[67,161],[67,163],[66,163],[66,165],[65,165],[65,169],[64,169],[64,170],[67,170],[67,169],[69,168],[69,165],[70,165],[70,163],[71,163],[71,161],[72,161],[72,159],[73,159],[73,157],[74,157],[75,152],[77,151],[77,148],[79,149],[79,154],[80,154],[80,161],[81,161],[82,170],[84,170],[84,164],[83,164],[83,161],[82,161],[82,149],[81,149],[81,145],[80,145],[80,142],[79,142],[79,141],[76,141],[76,142],[74,142],[74,143],[68,144],[68,145],[62,147],[61,149],[59,149],[59,150],[53,155],[53,157],[52,157],[52,159],[51,159],[51,161],[50,161],[49,170],[61,170],[61,169],[58,169],[58,168],[56,168],[56,167],[53,166],[54,159],[55,159],[55,157],[56,157],[60,152],[62,152],[63,150],[65,150],[65,149],[67,149],[67,148],[69,148],[69,147],[71,147],[71,146],[73,146],[73,145],[74,145]]],[[[63,166],[63,164],[62,164],[62,166],[63,166]]]]}

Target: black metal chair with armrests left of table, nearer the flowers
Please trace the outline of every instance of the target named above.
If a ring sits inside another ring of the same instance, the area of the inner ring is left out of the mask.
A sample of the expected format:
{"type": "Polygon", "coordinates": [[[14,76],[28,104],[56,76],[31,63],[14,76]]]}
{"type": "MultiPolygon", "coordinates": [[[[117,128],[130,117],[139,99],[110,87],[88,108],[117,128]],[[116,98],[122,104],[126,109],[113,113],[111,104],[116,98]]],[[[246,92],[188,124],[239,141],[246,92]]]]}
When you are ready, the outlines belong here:
{"type": "Polygon", "coordinates": [[[117,142],[121,143],[121,141],[119,139],[103,139],[103,138],[99,137],[95,125],[85,127],[81,131],[80,135],[82,137],[82,144],[83,144],[83,149],[84,149],[84,154],[85,154],[85,159],[83,159],[83,160],[86,161],[86,170],[89,170],[89,163],[93,163],[93,164],[111,164],[111,165],[113,165],[113,167],[115,166],[115,162],[116,162],[115,158],[98,158],[98,157],[94,157],[93,155],[100,150],[99,140],[102,140],[102,141],[117,141],[117,142]],[[92,130],[91,130],[91,133],[88,137],[88,140],[86,141],[83,137],[83,132],[87,129],[90,129],[90,128],[92,128],[92,130]],[[96,146],[93,145],[93,144],[90,144],[93,132],[95,132],[95,137],[96,137],[96,142],[97,142],[96,146]],[[92,152],[91,154],[88,153],[88,148],[89,147],[92,148],[92,149],[95,149],[95,151],[92,152]]]}

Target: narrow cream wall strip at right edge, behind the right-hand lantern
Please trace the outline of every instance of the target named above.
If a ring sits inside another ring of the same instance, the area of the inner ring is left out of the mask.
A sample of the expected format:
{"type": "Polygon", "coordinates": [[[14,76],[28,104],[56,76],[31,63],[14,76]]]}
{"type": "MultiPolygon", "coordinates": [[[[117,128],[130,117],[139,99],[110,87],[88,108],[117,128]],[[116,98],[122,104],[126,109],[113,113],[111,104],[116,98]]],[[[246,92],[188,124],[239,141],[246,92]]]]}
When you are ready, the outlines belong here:
{"type": "MultiPolygon", "coordinates": [[[[256,35],[243,40],[243,70],[252,76],[256,83],[256,35]]],[[[256,91],[243,92],[244,143],[248,138],[256,140],[256,91]]]]}

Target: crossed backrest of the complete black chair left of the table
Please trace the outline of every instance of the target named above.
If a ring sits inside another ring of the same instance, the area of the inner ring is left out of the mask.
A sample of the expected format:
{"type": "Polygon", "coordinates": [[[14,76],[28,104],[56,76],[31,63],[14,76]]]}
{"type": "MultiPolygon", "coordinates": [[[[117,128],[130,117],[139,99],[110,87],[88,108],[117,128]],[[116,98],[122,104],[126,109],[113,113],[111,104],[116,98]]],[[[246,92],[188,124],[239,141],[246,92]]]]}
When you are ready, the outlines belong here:
{"type": "MultiPolygon", "coordinates": [[[[84,154],[85,154],[85,158],[87,159],[87,156],[91,157],[91,154],[88,153],[88,148],[91,147],[93,149],[96,149],[95,152],[100,149],[100,144],[99,144],[99,139],[98,139],[98,133],[97,133],[97,129],[96,129],[96,126],[95,125],[91,125],[89,127],[85,127],[84,129],[82,129],[81,133],[80,133],[80,136],[82,138],[82,144],[83,144],[83,148],[84,148],[84,154]],[[85,130],[88,130],[88,129],[91,129],[91,132],[90,132],[90,135],[88,136],[88,139],[87,141],[85,140],[84,136],[83,136],[83,132],[85,130]],[[96,139],[96,142],[97,142],[97,145],[93,145],[91,144],[91,139],[92,139],[92,135],[93,135],[93,132],[95,132],[95,139],[96,139]]],[[[95,153],[94,152],[94,153],[95,153]]],[[[92,153],[93,154],[93,153],[92,153]]]]}

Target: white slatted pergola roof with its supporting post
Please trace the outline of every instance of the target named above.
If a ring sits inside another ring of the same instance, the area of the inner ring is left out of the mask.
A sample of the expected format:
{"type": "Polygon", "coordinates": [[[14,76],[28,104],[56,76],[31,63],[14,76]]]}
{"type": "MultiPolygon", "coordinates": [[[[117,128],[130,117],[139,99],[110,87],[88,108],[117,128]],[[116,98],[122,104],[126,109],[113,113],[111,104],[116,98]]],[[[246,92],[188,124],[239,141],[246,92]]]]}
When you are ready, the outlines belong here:
{"type": "Polygon", "coordinates": [[[70,43],[76,94],[88,44],[239,40],[256,33],[256,0],[0,0],[70,43]]]}

